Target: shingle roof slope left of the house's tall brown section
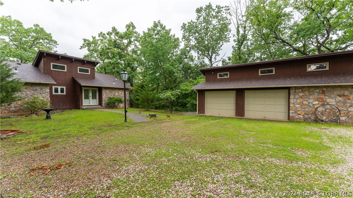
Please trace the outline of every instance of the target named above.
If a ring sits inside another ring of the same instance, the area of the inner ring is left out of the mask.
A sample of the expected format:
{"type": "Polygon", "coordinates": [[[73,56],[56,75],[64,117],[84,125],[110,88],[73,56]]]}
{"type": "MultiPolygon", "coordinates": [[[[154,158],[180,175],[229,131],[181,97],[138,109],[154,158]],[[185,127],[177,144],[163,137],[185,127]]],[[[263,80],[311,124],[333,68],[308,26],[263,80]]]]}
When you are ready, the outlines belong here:
{"type": "MultiPolygon", "coordinates": [[[[11,67],[17,67],[18,72],[14,78],[20,78],[23,82],[34,82],[34,83],[49,83],[56,84],[56,82],[48,74],[43,74],[38,67],[34,67],[31,64],[17,64],[14,62],[4,61],[3,63],[10,64],[11,67]]],[[[13,69],[15,71],[15,69],[13,69]]]]}

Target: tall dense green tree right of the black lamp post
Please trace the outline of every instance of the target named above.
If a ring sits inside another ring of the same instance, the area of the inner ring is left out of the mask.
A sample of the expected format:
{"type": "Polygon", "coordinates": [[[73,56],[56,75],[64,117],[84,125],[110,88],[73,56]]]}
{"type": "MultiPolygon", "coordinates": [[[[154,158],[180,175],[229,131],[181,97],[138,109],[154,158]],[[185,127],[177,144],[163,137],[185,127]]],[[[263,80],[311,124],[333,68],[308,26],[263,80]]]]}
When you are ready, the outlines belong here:
{"type": "Polygon", "coordinates": [[[156,92],[177,88],[182,81],[177,59],[179,38],[170,34],[170,29],[161,21],[154,21],[152,27],[143,32],[140,46],[142,77],[146,83],[156,92]]]}

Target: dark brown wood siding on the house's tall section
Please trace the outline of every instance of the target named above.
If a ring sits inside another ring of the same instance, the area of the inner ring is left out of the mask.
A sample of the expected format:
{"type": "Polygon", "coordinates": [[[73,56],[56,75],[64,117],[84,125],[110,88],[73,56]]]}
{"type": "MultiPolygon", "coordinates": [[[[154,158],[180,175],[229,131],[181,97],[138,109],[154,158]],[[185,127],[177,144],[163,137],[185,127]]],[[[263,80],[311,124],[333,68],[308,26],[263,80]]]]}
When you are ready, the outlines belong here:
{"type": "Polygon", "coordinates": [[[47,55],[42,58],[43,62],[43,73],[49,74],[54,81],[55,85],[50,85],[50,100],[54,109],[79,109],[82,106],[82,88],[72,78],[73,76],[84,77],[84,78],[95,78],[95,70],[93,63],[84,64],[83,61],[72,61],[72,59],[61,58],[59,60],[56,56],[47,55]],[[52,70],[51,63],[65,64],[66,72],[52,70]],[[90,69],[90,74],[78,73],[78,67],[90,69]],[[79,87],[77,87],[77,85],[79,87]],[[53,86],[66,87],[65,95],[53,94],[53,86]],[[81,96],[78,98],[78,96],[81,96]],[[77,101],[78,100],[78,101],[77,101]],[[79,104],[78,104],[79,103],[79,104]],[[78,106],[79,105],[79,106],[78,106]]]}

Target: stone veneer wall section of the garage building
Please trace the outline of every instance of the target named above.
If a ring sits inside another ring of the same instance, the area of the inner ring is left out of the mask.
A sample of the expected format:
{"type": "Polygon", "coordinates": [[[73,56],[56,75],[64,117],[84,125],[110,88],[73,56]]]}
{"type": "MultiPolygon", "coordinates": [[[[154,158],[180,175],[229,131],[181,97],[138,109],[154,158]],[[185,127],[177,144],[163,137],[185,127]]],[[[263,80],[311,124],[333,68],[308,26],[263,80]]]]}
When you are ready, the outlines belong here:
{"type": "Polygon", "coordinates": [[[353,124],[353,86],[291,87],[289,120],[313,122],[315,108],[335,105],[341,110],[341,123],[353,124]]]}

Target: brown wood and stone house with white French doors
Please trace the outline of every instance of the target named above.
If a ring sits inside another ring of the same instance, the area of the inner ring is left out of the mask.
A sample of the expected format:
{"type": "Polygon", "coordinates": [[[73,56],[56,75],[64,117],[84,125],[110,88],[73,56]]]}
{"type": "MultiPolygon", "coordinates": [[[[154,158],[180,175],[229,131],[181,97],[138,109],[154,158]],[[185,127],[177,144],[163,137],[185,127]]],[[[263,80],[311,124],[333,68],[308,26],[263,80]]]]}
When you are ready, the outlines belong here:
{"type": "MultiPolygon", "coordinates": [[[[95,73],[99,62],[49,51],[38,51],[33,64],[5,62],[16,78],[25,82],[24,100],[40,97],[51,100],[55,110],[104,108],[108,97],[124,99],[124,82],[113,75],[95,73]]],[[[126,85],[126,102],[128,90],[126,85]]],[[[123,104],[122,104],[123,105],[123,104]]],[[[21,113],[21,101],[2,107],[1,113],[21,113]]]]}

